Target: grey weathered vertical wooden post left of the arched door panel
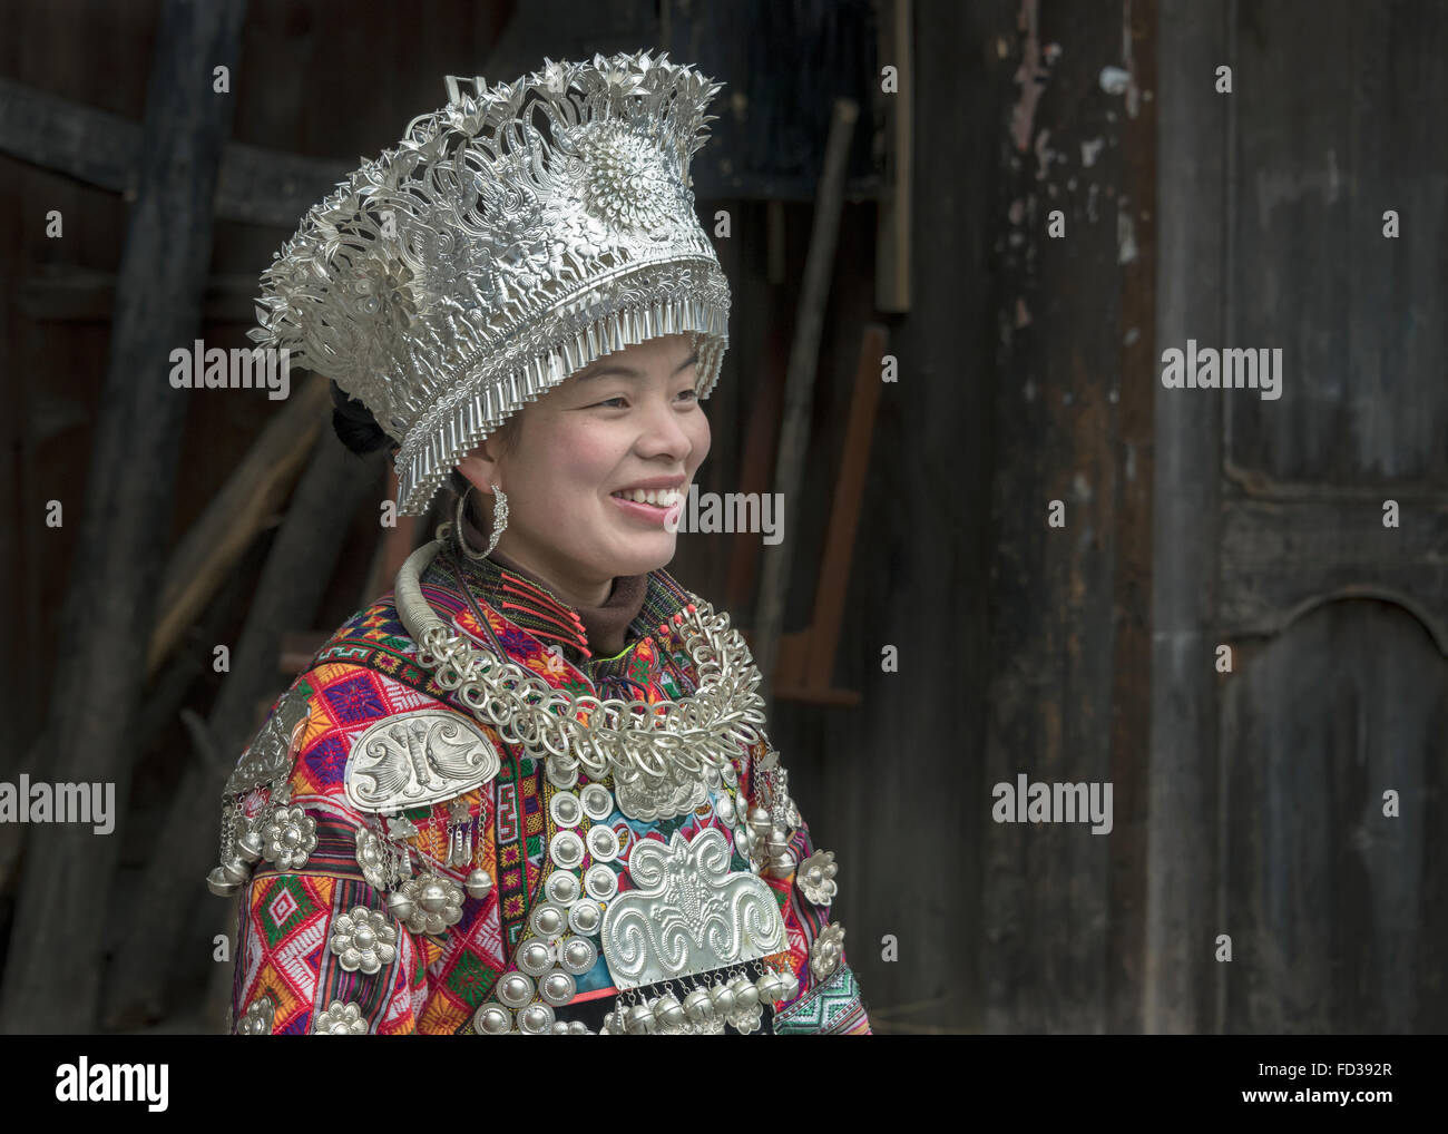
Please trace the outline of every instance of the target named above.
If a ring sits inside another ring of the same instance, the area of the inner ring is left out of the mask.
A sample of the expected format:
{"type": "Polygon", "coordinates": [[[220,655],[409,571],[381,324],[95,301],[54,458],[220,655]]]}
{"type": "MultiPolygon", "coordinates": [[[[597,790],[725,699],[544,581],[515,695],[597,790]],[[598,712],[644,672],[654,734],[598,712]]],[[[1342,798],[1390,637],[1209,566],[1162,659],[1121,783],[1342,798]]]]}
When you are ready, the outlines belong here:
{"type": "MultiPolygon", "coordinates": [[[[1156,349],[1224,323],[1226,3],[1160,0],[1156,349]],[[1170,203],[1170,206],[1167,204],[1170,203]]],[[[1215,332],[1211,332],[1215,333],[1215,332]]],[[[1153,478],[1151,795],[1141,1024],[1213,1028],[1218,469],[1221,398],[1158,391],[1153,478]]]]}

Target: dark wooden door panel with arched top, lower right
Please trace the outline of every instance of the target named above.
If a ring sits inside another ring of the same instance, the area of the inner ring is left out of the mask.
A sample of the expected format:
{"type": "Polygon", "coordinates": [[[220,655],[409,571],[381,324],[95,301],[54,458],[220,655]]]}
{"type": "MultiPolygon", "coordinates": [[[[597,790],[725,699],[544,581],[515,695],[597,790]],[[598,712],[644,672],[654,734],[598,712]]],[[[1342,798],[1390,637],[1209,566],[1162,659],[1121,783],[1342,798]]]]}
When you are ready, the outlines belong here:
{"type": "Polygon", "coordinates": [[[1225,1030],[1439,1031],[1448,659],[1399,607],[1332,602],[1239,652],[1222,720],[1225,1030]]]}

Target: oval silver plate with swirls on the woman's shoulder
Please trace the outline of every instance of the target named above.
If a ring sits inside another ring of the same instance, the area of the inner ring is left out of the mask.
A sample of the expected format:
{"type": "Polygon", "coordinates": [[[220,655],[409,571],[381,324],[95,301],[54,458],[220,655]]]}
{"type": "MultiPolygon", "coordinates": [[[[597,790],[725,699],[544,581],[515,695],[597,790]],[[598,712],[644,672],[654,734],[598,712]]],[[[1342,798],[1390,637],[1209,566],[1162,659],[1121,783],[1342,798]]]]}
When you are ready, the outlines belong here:
{"type": "Polygon", "coordinates": [[[348,802],[387,812],[472,791],[502,770],[497,746],[460,713],[424,708],[376,721],[348,753],[348,802]]]}

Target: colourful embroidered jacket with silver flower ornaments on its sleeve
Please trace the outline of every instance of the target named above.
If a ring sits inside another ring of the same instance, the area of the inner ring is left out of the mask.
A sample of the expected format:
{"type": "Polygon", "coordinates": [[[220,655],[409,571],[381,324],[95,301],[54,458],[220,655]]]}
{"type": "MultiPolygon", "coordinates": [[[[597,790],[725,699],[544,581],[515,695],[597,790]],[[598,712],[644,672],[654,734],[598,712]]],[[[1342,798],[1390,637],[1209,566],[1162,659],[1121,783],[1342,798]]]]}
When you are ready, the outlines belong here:
{"type": "MultiPolygon", "coordinates": [[[[455,631],[521,663],[553,686],[586,691],[601,700],[652,704],[688,697],[699,685],[672,621],[691,595],[665,571],[649,575],[643,608],[628,629],[630,640],[621,653],[607,659],[589,656],[576,611],[494,560],[471,562],[442,552],[421,584],[429,604],[455,631]]],[[[614,805],[613,795],[604,792],[610,814],[591,818],[578,812],[578,786],[563,792],[569,798],[557,799],[560,789],[549,781],[544,763],[530,759],[521,744],[507,744],[456,694],[434,684],[432,673],[416,663],[416,655],[417,646],[398,618],[392,595],[384,595],[349,618],[317,652],[278,698],[239,760],[229,798],[233,815],[245,815],[246,821],[235,826],[258,833],[253,846],[262,854],[253,854],[261,860],[239,889],[233,1033],[471,1034],[479,1005],[497,1005],[500,995],[517,992],[521,978],[515,975],[523,972],[520,965],[526,960],[523,947],[534,943],[536,962],[540,956],[536,943],[549,941],[549,925],[540,927],[533,917],[542,905],[572,908],[571,896],[575,901],[598,896],[602,901],[597,902],[597,914],[608,910],[608,898],[621,901],[636,894],[652,895],[652,910],[657,912],[657,888],[640,894],[647,886],[630,870],[630,863],[637,866],[647,859],[647,854],[636,859],[637,849],[653,840],[654,865],[712,849],[712,873],[705,872],[710,878],[720,876],[718,856],[727,849],[736,923],[740,888],[747,891],[746,898],[754,895],[762,901],[757,895],[766,895],[763,886],[767,886],[783,933],[780,947],[765,962],[780,973],[792,972],[798,991],[775,1005],[772,1024],[769,1012],[763,1012],[763,1030],[869,1034],[859,986],[843,950],[837,947],[831,954],[828,949],[840,933],[838,928],[825,933],[833,920],[833,881],[825,881],[824,889],[818,879],[808,886],[821,902],[817,904],[807,896],[798,872],[756,876],[736,846],[733,828],[743,811],[731,797],[741,794],[750,805],[759,801],[762,775],[754,765],[765,755],[765,742],[749,750],[740,747],[734,788],[725,778],[683,815],[659,821],[628,818],[614,805]],[[439,743],[445,752],[463,753],[469,739],[478,742],[472,753],[495,752],[497,772],[469,791],[405,810],[411,826],[392,827],[395,812],[390,818],[365,811],[349,798],[346,786],[349,762],[355,784],[376,786],[387,775],[395,773],[395,779],[413,772],[426,781],[429,773],[421,765],[427,756],[418,752],[420,733],[408,740],[405,731],[392,730],[388,742],[390,726],[381,730],[376,726],[390,720],[421,723],[417,727],[429,730],[440,726],[445,740],[439,743]],[[387,752],[388,743],[397,746],[394,756],[401,772],[379,763],[376,753],[387,752]],[[265,750],[268,744],[272,752],[265,750]],[[456,746],[446,749],[446,744],[456,746]],[[413,760],[411,772],[407,759],[413,760]],[[363,766],[371,770],[358,779],[363,766]],[[268,775],[269,784],[284,784],[279,798],[271,798],[264,782],[268,775]],[[591,836],[594,826],[611,828],[611,837],[608,831],[591,836]],[[569,847],[556,850],[557,834],[565,828],[576,828],[584,837],[581,863],[566,857],[569,847]],[[439,917],[421,931],[416,928],[421,912],[403,920],[407,914],[388,905],[387,886],[398,878],[388,879],[384,865],[388,854],[400,860],[404,844],[416,878],[426,882],[436,876],[453,883],[450,889],[445,885],[433,891],[432,905],[439,917]],[[615,878],[589,875],[588,895],[571,891],[576,881],[549,881],[560,873],[560,854],[562,862],[579,868],[575,879],[599,862],[607,862],[615,878]],[[491,882],[481,896],[463,889],[469,872],[476,869],[487,872],[491,882]],[[595,882],[607,883],[602,892],[594,888],[595,882]],[[445,892],[452,896],[442,896],[445,892]],[[820,941],[822,934],[825,940],[820,941]],[[511,985],[508,975],[514,975],[511,985]]],[[[602,784],[611,786],[611,778],[602,784]]],[[[595,814],[598,801],[597,794],[585,798],[595,814]]],[[[789,852],[795,863],[804,863],[815,852],[802,820],[789,837],[789,852]]],[[[656,873],[644,872],[649,881],[656,873]]],[[[688,918],[698,914],[698,895],[691,898],[685,892],[679,901],[692,902],[683,911],[683,924],[689,925],[688,918]]],[[[552,953],[544,959],[557,959],[563,936],[584,934],[588,928],[586,918],[572,928],[565,925],[553,936],[552,953]]],[[[592,940],[598,940],[597,927],[592,940]]],[[[585,950],[584,959],[592,967],[575,975],[573,986],[566,988],[571,995],[553,1015],[557,1021],[584,1021],[597,1031],[604,1012],[614,1008],[618,988],[605,956],[601,952],[594,956],[585,950]]],[[[741,970],[728,967],[731,975],[741,970]]],[[[542,979],[534,965],[533,980],[542,979]]],[[[679,999],[686,988],[688,983],[676,989],[679,999]]],[[[537,992],[542,994],[540,983],[537,992]]]]}

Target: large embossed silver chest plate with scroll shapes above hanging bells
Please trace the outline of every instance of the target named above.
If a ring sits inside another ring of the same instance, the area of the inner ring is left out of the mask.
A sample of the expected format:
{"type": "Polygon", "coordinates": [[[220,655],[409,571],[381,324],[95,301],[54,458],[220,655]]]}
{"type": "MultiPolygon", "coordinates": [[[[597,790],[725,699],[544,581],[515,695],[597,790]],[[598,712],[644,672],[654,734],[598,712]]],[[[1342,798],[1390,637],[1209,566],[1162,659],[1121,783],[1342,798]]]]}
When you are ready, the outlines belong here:
{"type": "Polygon", "coordinates": [[[614,986],[639,988],[754,960],[785,947],[773,891],[731,872],[717,827],[668,846],[643,839],[628,856],[636,889],[608,904],[599,931],[614,986]]]}

